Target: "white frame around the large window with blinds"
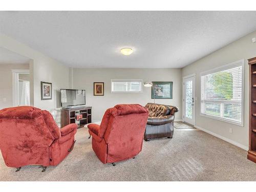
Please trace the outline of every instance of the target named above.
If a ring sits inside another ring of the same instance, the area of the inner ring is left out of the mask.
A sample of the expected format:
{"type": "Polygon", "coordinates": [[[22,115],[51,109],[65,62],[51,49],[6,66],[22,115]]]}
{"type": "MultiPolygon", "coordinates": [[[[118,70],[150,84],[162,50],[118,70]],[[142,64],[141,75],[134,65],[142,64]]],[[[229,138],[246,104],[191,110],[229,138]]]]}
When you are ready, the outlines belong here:
{"type": "Polygon", "coordinates": [[[199,94],[200,94],[200,96],[199,96],[200,97],[200,116],[207,117],[207,118],[210,118],[210,119],[219,120],[219,121],[224,121],[224,122],[235,124],[235,125],[238,125],[238,126],[244,126],[244,59],[240,59],[238,61],[228,63],[224,66],[220,66],[220,67],[217,67],[217,68],[214,68],[214,69],[211,69],[211,70],[201,72],[199,83],[200,83],[200,85],[199,85],[199,89],[200,89],[200,92],[199,92],[199,94]],[[239,67],[239,66],[242,66],[242,102],[241,102],[242,113],[241,113],[241,123],[233,121],[233,120],[224,119],[224,118],[221,118],[221,117],[215,117],[215,116],[211,116],[211,115],[202,114],[201,113],[201,105],[202,105],[202,102],[201,102],[201,80],[202,80],[202,76],[208,75],[208,74],[211,74],[211,73],[221,72],[221,71],[224,71],[224,70],[227,70],[227,69],[230,69],[230,68],[234,68],[234,67],[239,67]]]}

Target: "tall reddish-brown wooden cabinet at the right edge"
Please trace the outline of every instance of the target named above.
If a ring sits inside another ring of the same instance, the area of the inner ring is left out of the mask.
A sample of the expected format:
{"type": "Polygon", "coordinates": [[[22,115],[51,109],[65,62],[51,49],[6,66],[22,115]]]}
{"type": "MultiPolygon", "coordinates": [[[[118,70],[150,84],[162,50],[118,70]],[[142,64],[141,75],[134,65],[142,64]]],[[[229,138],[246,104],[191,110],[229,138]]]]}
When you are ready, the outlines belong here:
{"type": "Polygon", "coordinates": [[[256,163],[256,57],[249,63],[249,150],[247,159],[256,163]]]}

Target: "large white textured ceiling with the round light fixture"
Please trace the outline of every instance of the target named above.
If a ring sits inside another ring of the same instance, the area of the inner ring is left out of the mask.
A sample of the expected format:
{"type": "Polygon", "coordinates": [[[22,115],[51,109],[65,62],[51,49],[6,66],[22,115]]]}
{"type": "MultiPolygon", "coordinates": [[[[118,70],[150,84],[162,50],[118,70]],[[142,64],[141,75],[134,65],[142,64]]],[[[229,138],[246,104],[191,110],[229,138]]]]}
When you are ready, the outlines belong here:
{"type": "Polygon", "coordinates": [[[255,19],[256,11],[1,11],[0,32],[71,67],[181,68],[255,31],[255,19]]]}

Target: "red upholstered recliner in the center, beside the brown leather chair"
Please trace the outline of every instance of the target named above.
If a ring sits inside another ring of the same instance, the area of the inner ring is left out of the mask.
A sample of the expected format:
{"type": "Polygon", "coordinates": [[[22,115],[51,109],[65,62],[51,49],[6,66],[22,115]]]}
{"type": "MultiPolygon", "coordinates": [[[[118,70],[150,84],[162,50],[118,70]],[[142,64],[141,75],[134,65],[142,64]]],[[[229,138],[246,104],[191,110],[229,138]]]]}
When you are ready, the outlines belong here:
{"type": "Polygon", "coordinates": [[[89,124],[92,147],[102,163],[134,158],[141,152],[148,110],[139,104],[118,104],[106,110],[101,124],[89,124]]]}

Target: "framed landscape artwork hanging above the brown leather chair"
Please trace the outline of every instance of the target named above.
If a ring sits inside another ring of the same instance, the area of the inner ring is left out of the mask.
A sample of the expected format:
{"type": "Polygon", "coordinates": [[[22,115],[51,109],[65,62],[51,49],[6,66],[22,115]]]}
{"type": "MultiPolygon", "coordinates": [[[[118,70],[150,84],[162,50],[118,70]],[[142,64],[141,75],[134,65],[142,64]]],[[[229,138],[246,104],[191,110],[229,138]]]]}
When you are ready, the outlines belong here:
{"type": "Polygon", "coordinates": [[[152,82],[152,99],[172,99],[173,82],[152,82]]]}

